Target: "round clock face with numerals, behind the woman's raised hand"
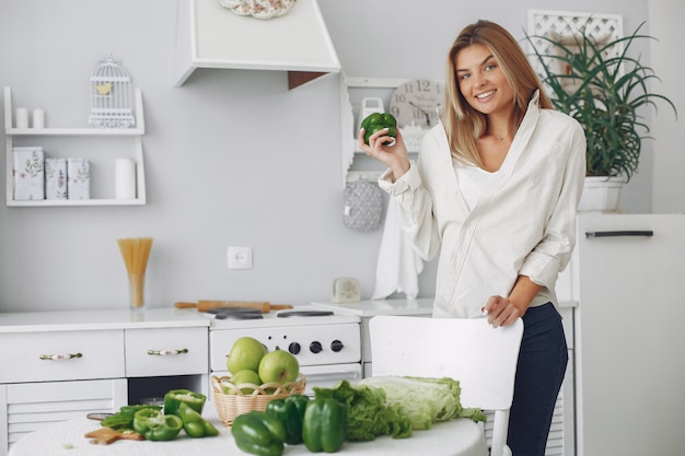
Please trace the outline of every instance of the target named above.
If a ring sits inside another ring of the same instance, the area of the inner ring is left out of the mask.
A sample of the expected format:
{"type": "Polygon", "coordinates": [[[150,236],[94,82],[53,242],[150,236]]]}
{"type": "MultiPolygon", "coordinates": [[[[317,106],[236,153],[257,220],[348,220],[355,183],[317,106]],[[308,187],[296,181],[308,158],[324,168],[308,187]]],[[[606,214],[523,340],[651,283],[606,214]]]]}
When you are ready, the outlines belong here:
{"type": "Polygon", "coordinates": [[[417,79],[398,86],[390,101],[390,113],[399,128],[414,122],[429,129],[438,125],[438,107],[444,100],[444,84],[428,79],[417,79]]]}

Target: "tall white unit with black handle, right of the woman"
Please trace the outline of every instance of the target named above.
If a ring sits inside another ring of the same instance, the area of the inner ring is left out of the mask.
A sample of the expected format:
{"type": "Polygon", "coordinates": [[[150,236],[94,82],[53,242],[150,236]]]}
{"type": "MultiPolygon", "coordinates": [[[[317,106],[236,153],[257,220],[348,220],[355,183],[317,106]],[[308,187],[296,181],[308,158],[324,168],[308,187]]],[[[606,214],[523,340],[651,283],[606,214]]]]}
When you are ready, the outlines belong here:
{"type": "Polygon", "coordinates": [[[685,215],[581,214],[578,456],[685,448],[685,215]]]}

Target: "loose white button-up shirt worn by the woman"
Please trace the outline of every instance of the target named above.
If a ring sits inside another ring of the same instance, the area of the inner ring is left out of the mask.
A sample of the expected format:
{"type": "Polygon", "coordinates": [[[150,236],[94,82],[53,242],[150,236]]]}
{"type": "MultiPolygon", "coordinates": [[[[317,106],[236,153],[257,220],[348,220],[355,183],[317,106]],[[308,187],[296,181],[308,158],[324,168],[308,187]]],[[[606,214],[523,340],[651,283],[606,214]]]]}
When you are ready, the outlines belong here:
{"type": "Polygon", "coordinates": [[[434,305],[476,317],[489,296],[508,296],[520,274],[543,287],[531,305],[558,305],[554,288],[576,244],[584,175],[582,127],[539,109],[535,96],[479,195],[455,172],[442,125],[426,135],[418,163],[395,183],[387,171],[379,184],[397,198],[418,255],[440,256],[434,305]]]}

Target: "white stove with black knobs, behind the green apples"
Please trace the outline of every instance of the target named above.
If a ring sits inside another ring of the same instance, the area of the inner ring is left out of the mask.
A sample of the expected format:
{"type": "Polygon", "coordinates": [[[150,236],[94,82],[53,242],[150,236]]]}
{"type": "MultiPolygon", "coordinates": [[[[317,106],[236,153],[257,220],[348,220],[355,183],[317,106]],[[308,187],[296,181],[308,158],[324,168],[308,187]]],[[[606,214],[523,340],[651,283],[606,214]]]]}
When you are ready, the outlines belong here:
{"type": "MultiPolygon", "coordinates": [[[[305,394],[314,386],[330,387],[340,379],[361,379],[361,318],[314,306],[259,314],[214,309],[209,326],[210,375],[227,376],[227,356],[235,340],[249,336],[269,351],[287,350],[306,376],[305,394]]],[[[211,386],[209,390],[211,391],[211,386]]]]}

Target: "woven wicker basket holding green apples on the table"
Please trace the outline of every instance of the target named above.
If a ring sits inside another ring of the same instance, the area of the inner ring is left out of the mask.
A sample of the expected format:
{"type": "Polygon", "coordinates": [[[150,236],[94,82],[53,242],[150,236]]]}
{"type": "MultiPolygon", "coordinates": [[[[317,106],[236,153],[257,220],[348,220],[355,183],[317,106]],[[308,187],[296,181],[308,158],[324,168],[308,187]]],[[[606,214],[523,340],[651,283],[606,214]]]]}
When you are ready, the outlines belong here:
{"type": "Polygon", "coordinates": [[[264,385],[244,383],[234,385],[231,383],[231,377],[211,376],[213,401],[217,405],[217,412],[224,426],[233,424],[233,420],[239,414],[247,413],[251,410],[266,410],[266,405],[272,399],[302,394],[305,385],[306,378],[302,373],[294,382],[282,385],[278,383],[265,383],[264,385]],[[222,386],[229,387],[232,394],[224,394],[222,386]],[[241,391],[243,388],[252,388],[253,391],[246,395],[241,391]]]}

